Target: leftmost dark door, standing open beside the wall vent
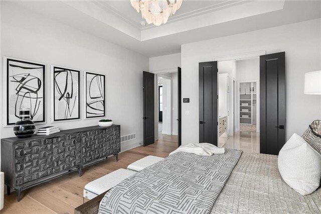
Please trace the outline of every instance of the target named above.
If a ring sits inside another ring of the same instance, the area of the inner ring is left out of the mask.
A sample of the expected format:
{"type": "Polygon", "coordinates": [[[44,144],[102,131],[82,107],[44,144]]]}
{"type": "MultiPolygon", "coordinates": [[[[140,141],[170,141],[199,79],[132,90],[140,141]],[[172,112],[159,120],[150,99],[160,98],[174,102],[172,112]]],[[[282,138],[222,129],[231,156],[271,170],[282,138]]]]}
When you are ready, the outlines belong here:
{"type": "Polygon", "coordinates": [[[143,71],[143,146],[155,142],[154,74],[143,71]]]}

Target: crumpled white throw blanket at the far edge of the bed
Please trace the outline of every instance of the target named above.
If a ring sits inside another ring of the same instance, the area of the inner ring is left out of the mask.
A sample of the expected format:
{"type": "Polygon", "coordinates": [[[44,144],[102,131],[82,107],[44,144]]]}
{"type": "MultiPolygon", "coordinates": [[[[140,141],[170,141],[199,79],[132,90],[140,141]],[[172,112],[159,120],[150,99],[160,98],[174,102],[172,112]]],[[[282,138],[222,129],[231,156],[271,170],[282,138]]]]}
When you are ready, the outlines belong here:
{"type": "Polygon", "coordinates": [[[194,153],[200,156],[212,156],[213,154],[224,154],[224,148],[218,148],[213,144],[209,143],[190,143],[187,145],[180,146],[176,150],[170,153],[170,155],[177,152],[188,152],[194,153]]]}

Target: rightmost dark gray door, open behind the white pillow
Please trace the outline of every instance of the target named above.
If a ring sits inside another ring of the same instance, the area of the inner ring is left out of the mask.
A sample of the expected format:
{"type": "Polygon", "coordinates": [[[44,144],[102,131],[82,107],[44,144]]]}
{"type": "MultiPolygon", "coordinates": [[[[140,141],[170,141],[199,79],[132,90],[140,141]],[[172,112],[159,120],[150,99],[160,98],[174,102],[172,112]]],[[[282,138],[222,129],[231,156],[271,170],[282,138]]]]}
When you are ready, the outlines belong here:
{"type": "Polygon", "coordinates": [[[260,153],[285,143],[285,52],[260,56],[260,153]]]}

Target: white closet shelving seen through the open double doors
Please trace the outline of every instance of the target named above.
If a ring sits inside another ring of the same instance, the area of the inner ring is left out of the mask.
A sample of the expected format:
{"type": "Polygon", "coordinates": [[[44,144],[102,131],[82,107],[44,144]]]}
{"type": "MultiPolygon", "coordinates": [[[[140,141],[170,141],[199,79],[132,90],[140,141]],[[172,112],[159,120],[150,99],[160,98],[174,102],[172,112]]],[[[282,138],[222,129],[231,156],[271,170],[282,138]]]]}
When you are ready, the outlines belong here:
{"type": "Polygon", "coordinates": [[[240,82],[240,124],[256,125],[256,82],[240,82]]]}

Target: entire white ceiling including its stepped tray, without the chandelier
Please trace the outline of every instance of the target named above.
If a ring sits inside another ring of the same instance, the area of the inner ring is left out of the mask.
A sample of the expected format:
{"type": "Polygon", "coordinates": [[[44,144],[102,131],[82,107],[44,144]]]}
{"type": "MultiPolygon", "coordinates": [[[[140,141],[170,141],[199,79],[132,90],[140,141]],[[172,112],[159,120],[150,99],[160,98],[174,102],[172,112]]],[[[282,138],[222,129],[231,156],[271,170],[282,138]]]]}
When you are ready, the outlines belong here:
{"type": "Polygon", "coordinates": [[[142,55],[181,52],[181,45],[321,17],[320,1],[193,1],[165,25],[140,26],[126,1],[17,1],[21,7],[142,55]]]}

